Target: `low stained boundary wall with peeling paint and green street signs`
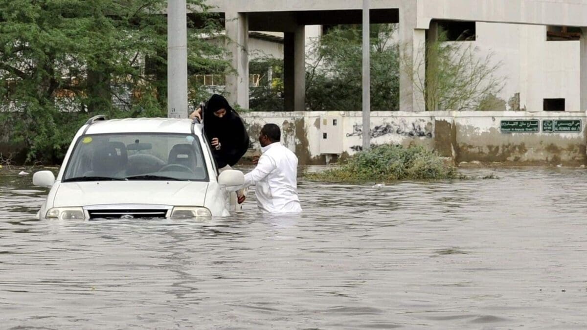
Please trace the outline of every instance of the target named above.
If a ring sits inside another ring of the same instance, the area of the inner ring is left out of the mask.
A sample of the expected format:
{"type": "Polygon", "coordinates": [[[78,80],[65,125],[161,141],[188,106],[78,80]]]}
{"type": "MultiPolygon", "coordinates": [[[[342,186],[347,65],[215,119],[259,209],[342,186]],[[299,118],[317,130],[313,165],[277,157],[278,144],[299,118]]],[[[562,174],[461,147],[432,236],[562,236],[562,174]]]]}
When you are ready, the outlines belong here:
{"type": "MultiPolygon", "coordinates": [[[[342,121],[341,157],[361,149],[360,112],[281,112],[244,113],[251,139],[256,139],[265,123],[282,127],[285,146],[298,155],[301,164],[325,164],[321,154],[322,118],[339,116],[342,121]]],[[[373,144],[420,145],[463,161],[499,162],[513,165],[587,163],[585,113],[519,112],[373,112],[373,144]],[[581,119],[578,133],[501,133],[501,120],[581,119]]]]}

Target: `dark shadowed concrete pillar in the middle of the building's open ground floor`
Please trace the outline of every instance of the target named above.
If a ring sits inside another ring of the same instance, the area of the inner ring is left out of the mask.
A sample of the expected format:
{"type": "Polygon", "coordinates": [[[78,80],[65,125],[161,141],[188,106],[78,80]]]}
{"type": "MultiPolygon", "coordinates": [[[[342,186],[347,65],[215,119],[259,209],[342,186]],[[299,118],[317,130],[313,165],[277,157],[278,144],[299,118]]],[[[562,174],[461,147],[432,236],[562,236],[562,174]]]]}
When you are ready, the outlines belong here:
{"type": "Polygon", "coordinates": [[[306,109],[306,33],[304,26],[284,35],[285,111],[306,109]]]}

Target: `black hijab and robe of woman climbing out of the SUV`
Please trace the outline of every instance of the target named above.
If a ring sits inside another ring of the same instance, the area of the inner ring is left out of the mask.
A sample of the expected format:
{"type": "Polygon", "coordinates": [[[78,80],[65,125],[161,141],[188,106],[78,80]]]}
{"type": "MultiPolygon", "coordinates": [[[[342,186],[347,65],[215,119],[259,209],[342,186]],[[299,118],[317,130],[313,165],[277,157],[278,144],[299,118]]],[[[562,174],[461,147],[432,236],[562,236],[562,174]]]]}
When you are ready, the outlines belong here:
{"type": "Polygon", "coordinates": [[[204,132],[208,141],[215,137],[220,141],[220,150],[212,147],[219,169],[227,165],[234,166],[249,148],[249,135],[245,124],[228,101],[220,95],[212,95],[206,104],[204,132]],[[222,118],[214,115],[214,112],[220,109],[226,110],[226,115],[222,118]]]}

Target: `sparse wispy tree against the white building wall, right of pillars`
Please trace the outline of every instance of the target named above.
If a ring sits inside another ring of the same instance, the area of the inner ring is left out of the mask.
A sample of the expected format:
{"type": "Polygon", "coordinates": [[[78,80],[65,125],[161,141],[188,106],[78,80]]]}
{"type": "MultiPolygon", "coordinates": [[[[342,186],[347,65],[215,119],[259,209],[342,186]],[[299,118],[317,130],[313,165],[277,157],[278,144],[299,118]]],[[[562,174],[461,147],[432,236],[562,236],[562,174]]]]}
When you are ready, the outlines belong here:
{"type": "Polygon", "coordinates": [[[403,56],[402,66],[426,110],[497,110],[495,95],[505,79],[495,75],[501,62],[494,63],[492,53],[479,56],[471,43],[447,42],[444,31],[425,49],[415,59],[403,56]]]}

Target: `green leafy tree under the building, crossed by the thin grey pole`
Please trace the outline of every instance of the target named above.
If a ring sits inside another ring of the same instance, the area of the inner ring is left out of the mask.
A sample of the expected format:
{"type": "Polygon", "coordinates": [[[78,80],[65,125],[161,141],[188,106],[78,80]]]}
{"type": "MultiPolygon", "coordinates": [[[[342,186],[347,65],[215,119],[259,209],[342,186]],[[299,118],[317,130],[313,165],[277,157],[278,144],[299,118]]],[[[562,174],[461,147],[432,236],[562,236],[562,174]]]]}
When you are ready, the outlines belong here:
{"type": "MultiPolygon", "coordinates": [[[[399,49],[390,44],[396,25],[372,25],[371,109],[399,110],[399,49]]],[[[311,45],[306,102],[311,110],[362,108],[362,31],[338,26],[311,45]]]]}

